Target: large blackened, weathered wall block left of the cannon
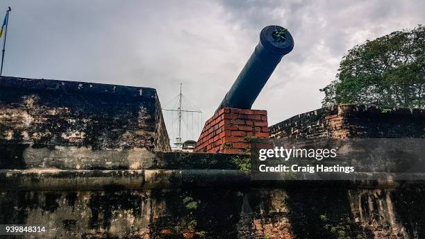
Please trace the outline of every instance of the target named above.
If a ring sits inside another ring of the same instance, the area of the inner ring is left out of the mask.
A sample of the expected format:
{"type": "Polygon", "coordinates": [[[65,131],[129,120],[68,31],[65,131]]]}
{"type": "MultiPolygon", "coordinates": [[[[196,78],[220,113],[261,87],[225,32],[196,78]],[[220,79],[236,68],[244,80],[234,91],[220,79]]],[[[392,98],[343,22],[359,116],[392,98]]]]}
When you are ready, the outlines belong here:
{"type": "Polygon", "coordinates": [[[132,167],[147,149],[170,150],[154,89],[0,77],[0,168],[55,158],[132,167]]]}

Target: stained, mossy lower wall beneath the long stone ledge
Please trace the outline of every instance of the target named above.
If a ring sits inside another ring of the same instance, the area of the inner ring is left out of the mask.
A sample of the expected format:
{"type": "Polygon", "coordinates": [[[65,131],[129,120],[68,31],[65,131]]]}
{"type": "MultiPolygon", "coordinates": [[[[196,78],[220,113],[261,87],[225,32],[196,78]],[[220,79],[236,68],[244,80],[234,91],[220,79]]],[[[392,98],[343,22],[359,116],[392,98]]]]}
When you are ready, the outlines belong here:
{"type": "MultiPolygon", "coordinates": [[[[424,238],[423,189],[238,186],[0,192],[39,238],[424,238]]],[[[28,237],[29,238],[29,237],[28,237]]]]}

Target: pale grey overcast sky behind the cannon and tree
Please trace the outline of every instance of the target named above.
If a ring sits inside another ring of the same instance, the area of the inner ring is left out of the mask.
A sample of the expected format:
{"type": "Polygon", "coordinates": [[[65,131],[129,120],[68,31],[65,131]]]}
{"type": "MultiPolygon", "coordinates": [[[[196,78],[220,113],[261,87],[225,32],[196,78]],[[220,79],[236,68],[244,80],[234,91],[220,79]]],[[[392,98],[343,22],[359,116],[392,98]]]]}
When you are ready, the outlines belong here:
{"type": "MultiPolygon", "coordinates": [[[[321,106],[319,92],[356,44],[425,22],[425,1],[0,1],[12,7],[8,76],[156,88],[214,110],[264,26],[288,28],[284,56],[253,105],[269,124],[321,106]]],[[[3,19],[3,12],[1,12],[3,19]]]]}

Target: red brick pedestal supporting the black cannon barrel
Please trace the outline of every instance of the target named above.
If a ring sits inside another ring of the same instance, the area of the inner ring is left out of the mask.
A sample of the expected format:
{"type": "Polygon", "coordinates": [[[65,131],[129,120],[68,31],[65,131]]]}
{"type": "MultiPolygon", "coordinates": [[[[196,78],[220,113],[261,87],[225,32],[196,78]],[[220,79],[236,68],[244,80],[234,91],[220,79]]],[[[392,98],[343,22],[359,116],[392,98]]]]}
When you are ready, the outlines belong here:
{"type": "Polygon", "coordinates": [[[203,126],[194,152],[244,153],[252,138],[269,138],[267,111],[222,108],[203,126]]]}

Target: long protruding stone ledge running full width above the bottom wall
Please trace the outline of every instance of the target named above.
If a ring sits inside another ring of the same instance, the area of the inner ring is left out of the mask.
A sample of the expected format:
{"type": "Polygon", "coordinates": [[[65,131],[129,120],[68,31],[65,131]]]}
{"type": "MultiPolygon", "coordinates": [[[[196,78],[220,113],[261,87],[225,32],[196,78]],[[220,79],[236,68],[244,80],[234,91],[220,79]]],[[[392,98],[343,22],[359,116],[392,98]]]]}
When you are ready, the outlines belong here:
{"type": "Polygon", "coordinates": [[[290,178],[252,181],[239,170],[0,170],[1,191],[10,190],[138,190],[153,188],[412,188],[425,187],[425,174],[353,173],[349,180],[290,178]],[[358,180],[358,179],[366,180],[358,180]]]}

